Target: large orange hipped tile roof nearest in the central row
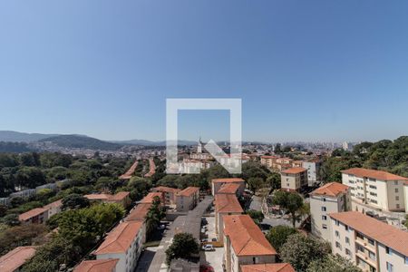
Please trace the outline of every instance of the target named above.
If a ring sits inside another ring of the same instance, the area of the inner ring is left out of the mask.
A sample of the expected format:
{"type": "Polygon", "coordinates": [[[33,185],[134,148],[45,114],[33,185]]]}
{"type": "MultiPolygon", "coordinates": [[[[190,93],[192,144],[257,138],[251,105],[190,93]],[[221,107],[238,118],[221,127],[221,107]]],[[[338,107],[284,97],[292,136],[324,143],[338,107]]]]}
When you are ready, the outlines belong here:
{"type": "Polygon", "coordinates": [[[276,255],[277,251],[247,214],[224,216],[224,234],[237,256],[276,255]]]}

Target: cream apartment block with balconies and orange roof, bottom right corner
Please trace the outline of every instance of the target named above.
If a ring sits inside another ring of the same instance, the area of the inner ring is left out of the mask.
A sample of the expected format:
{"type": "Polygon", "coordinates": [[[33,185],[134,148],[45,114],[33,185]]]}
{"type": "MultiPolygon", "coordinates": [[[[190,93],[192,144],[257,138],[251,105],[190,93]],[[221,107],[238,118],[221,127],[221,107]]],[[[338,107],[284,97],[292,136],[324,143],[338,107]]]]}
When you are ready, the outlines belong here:
{"type": "Polygon", "coordinates": [[[357,211],[330,214],[333,254],[364,272],[408,271],[408,233],[357,211]]]}

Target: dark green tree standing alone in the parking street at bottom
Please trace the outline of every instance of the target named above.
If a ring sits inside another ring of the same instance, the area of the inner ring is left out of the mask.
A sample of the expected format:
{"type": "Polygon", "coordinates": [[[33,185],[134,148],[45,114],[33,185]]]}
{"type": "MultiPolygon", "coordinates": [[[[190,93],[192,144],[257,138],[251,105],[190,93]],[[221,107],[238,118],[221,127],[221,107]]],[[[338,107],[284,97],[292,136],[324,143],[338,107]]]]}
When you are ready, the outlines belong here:
{"type": "Polygon", "coordinates": [[[170,265],[172,259],[189,259],[192,254],[199,254],[199,243],[190,233],[178,233],[166,250],[166,261],[170,265]]]}

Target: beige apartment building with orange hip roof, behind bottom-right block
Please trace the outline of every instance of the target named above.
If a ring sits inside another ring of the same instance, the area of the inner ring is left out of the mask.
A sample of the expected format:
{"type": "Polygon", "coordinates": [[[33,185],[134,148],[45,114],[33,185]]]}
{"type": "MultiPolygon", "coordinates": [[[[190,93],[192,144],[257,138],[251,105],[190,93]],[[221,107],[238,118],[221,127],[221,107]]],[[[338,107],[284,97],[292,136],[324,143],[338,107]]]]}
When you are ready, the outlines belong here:
{"type": "Polygon", "coordinates": [[[312,233],[330,241],[330,219],[328,214],[351,208],[349,187],[330,182],[310,193],[310,216],[312,233]]]}

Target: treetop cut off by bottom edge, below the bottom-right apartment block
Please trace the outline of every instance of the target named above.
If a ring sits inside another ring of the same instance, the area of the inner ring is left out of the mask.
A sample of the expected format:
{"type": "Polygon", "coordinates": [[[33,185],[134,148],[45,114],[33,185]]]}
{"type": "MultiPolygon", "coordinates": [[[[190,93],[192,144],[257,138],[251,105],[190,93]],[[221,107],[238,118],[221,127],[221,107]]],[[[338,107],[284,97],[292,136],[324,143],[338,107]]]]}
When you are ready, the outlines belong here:
{"type": "Polygon", "coordinates": [[[327,254],[323,259],[312,261],[306,272],[361,272],[359,267],[339,255],[327,254]]]}

